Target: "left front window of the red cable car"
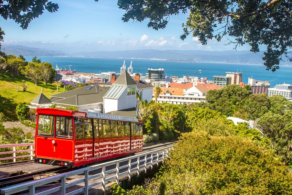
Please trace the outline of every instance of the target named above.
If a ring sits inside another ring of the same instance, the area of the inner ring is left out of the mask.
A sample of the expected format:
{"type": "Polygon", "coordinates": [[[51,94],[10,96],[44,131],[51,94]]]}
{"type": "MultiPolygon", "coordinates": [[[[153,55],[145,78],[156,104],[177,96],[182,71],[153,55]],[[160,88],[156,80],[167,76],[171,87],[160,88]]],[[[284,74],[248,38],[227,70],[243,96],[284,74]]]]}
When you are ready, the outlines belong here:
{"type": "Polygon", "coordinates": [[[39,115],[37,134],[46,137],[54,137],[54,117],[39,115]]]}

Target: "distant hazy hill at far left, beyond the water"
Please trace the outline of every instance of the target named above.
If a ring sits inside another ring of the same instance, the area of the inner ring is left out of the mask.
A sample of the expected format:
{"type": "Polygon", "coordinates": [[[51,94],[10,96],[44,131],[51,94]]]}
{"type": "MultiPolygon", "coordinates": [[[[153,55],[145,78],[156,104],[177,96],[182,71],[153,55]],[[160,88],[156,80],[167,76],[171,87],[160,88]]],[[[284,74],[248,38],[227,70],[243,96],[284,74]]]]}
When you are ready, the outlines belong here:
{"type": "Polygon", "coordinates": [[[15,56],[68,56],[68,54],[61,51],[50,51],[22,45],[2,45],[1,51],[15,56]]]}

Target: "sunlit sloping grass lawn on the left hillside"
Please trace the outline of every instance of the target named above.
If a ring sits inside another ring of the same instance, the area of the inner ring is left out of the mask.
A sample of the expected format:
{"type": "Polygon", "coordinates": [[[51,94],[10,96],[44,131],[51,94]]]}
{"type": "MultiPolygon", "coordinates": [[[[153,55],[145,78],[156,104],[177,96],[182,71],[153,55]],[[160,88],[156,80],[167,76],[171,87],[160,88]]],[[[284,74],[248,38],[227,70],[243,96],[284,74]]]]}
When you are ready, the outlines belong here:
{"type": "Polygon", "coordinates": [[[39,82],[36,86],[28,78],[23,76],[11,77],[6,73],[6,75],[0,78],[0,112],[3,112],[8,120],[18,120],[15,115],[15,108],[18,102],[30,103],[36,96],[41,93],[41,88],[43,87],[43,94],[50,99],[50,95],[63,92],[63,88],[59,88],[57,92],[57,87],[53,84],[45,84],[44,82],[39,82]],[[21,81],[25,80],[27,83],[27,91],[23,92],[21,87],[21,81]],[[19,85],[17,92],[17,85],[19,85]]]}

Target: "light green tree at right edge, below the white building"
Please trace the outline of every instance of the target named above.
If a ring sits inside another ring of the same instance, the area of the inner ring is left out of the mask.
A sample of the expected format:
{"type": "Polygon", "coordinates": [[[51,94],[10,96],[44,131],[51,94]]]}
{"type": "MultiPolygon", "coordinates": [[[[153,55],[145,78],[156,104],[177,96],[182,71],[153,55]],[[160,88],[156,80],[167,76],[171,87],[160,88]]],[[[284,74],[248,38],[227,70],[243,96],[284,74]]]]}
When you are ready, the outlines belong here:
{"type": "Polygon", "coordinates": [[[274,95],[269,97],[271,102],[270,111],[280,115],[284,115],[287,110],[292,109],[292,102],[288,101],[285,97],[280,95],[274,95]]]}

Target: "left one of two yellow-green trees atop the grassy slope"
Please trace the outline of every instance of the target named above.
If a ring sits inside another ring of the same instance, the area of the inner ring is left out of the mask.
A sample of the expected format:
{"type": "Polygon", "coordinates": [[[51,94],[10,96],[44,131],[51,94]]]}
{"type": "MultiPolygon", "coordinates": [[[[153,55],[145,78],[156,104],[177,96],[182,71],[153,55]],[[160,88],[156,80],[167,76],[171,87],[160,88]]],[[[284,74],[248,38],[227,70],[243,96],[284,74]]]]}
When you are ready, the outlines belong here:
{"type": "Polygon", "coordinates": [[[37,83],[39,82],[39,80],[41,80],[42,76],[42,73],[40,72],[40,64],[36,62],[29,62],[25,66],[23,74],[27,78],[32,80],[32,82],[34,82],[34,84],[37,86],[37,83]]]}

